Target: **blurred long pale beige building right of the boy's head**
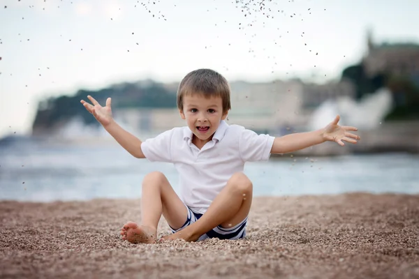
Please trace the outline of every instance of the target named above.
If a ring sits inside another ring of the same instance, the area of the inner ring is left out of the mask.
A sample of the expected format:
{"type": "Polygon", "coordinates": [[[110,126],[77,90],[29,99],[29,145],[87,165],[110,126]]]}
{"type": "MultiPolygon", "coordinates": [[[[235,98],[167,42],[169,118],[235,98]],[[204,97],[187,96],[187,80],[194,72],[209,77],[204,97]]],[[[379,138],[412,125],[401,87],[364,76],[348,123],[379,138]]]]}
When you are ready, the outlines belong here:
{"type": "Polygon", "coordinates": [[[304,84],[299,80],[270,83],[234,82],[231,84],[230,123],[259,132],[293,130],[304,127],[316,108],[326,100],[355,98],[352,82],[304,84]]]}

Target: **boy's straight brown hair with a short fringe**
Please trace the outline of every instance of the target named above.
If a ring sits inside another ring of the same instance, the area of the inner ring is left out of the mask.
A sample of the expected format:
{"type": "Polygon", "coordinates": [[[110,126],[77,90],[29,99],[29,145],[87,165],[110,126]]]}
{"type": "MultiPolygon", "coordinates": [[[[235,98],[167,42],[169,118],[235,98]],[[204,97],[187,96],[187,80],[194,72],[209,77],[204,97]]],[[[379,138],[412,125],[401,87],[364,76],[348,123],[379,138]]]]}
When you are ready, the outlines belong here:
{"type": "Polygon", "coordinates": [[[177,89],[177,108],[183,110],[183,97],[194,93],[203,94],[205,98],[221,97],[223,114],[231,109],[230,86],[226,78],[215,70],[198,69],[187,74],[177,89]]]}

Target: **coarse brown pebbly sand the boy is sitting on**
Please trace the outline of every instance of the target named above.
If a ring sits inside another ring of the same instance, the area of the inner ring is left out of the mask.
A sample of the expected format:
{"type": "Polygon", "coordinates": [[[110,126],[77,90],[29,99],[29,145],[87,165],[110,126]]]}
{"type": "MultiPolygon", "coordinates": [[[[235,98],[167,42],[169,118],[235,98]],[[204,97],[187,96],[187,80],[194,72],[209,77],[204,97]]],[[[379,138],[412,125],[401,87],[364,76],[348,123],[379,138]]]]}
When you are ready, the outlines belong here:
{"type": "Polygon", "coordinates": [[[0,202],[0,278],[419,278],[419,195],[258,197],[247,239],[153,245],[120,239],[139,203],[0,202]]]}

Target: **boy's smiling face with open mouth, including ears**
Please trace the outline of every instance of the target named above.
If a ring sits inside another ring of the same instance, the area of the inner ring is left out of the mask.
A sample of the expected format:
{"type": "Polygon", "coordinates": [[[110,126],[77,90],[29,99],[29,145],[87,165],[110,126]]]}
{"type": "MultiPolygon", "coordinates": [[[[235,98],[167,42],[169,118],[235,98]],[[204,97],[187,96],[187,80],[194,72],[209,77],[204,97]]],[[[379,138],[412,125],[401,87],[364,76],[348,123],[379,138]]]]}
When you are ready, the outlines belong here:
{"type": "Polygon", "coordinates": [[[194,144],[203,145],[212,140],[220,121],[226,119],[227,112],[223,112],[223,100],[221,97],[205,98],[196,93],[183,98],[183,111],[180,111],[182,119],[196,137],[194,144]]]}

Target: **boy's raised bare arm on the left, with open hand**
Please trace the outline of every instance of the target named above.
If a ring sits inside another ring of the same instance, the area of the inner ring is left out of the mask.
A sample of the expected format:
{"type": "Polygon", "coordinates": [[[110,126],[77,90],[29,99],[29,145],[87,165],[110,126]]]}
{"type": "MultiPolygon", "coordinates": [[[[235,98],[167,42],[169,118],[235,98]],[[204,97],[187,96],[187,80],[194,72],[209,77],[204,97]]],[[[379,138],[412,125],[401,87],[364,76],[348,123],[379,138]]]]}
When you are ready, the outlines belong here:
{"type": "Polygon", "coordinates": [[[102,107],[93,97],[87,96],[91,104],[81,100],[80,102],[86,107],[86,110],[93,114],[96,120],[102,124],[103,128],[119,143],[126,151],[135,158],[145,158],[141,150],[142,142],[131,133],[124,130],[112,118],[112,110],[110,108],[111,99],[106,100],[106,106],[102,107]]]}

